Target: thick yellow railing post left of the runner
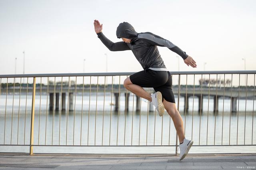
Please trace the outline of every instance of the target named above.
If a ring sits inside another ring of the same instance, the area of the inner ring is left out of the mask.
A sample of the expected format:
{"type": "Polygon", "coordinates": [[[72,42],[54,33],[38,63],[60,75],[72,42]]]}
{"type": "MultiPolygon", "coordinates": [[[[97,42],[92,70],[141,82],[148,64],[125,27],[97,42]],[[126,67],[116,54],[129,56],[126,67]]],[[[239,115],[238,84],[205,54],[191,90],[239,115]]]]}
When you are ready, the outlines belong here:
{"type": "Polygon", "coordinates": [[[34,114],[35,114],[35,96],[36,96],[36,77],[33,78],[33,94],[32,94],[32,107],[31,107],[31,128],[30,128],[30,155],[33,154],[34,144],[34,114]]]}

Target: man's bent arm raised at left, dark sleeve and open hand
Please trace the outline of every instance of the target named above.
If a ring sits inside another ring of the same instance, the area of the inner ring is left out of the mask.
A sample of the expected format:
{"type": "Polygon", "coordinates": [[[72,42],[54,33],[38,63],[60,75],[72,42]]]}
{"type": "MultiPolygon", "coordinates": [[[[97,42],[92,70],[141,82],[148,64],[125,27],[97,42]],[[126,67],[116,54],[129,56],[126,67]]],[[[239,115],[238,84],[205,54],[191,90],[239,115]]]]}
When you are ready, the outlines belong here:
{"type": "Polygon", "coordinates": [[[117,42],[113,43],[110,41],[103,33],[102,33],[102,25],[100,25],[100,22],[98,20],[94,20],[94,30],[98,35],[98,38],[102,43],[110,50],[110,51],[125,51],[125,50],[130,50],[128,45],[126,43],[122,42],[117,42]]]}

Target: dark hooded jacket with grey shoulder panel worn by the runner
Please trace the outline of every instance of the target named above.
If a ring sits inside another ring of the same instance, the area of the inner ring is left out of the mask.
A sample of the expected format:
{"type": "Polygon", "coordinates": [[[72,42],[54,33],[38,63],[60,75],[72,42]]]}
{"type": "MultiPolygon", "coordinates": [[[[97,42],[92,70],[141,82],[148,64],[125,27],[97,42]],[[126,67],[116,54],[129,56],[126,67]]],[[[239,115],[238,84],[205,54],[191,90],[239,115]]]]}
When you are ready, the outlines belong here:
{"type": "Polygon", "coordinates": [[[123,22],[118,25],[116,37],[131,39],[130,43],[123,41],[113,43],[102,32],[97,33],[97,35],[110,51],[131,50],[144,70],[149,68],[156,71],[168,71],[159,54],[157,46],[167,47],[180,55],[183,59],[188,57],[186,52],[158,35],[154,35],[150,32],[137,33],[134,27],[128,22],[123,22]]]}

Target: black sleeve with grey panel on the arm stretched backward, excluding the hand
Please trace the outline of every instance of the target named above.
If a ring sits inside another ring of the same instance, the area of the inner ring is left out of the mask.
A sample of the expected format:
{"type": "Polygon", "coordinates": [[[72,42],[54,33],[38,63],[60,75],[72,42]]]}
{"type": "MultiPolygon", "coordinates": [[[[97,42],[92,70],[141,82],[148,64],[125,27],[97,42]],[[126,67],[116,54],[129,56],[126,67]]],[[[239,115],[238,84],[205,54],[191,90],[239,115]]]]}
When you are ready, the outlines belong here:
{"type": "Polygon", "coordinates": [[[184,59],[184,60],[188,57],[186,52],[182,51],[178,46],[174,45],[172,42],[170,42],[158,35],[154,35],[153,33],[150,33],[150,32],[139,33],[138,38],[148,40],[147,43],[149,43],[150,45],[158,45],[160,47],[167,47],[174,53],[177,53],[178,55],[180,55],[182,57],[182,59],[184,59]]]}

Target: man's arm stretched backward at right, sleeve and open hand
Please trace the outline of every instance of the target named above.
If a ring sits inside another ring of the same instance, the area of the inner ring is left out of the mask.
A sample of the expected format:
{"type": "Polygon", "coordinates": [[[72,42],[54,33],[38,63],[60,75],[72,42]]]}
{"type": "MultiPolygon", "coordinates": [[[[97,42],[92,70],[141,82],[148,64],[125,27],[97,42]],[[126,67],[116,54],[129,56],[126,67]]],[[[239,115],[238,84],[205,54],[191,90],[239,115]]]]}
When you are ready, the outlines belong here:
{"type": "Polygon", "coordinates": [[[174,53],[177,53],[182,57],[184,60],[184,63],[186,63],[188,66],[192,66],[193,68],[196,67],[196,62],[192,59],[192,57],[188,56],[186,52],[182,51],[178,46],[174,45],[172,42],[168,41],[167,39],[164,39],[158,35],[155,35],[150,32],[140,33],[138,35],[139,38],[143,38],[146,43],[150,45],[158,45],[160,47],[167,47],[174,53]]]}

